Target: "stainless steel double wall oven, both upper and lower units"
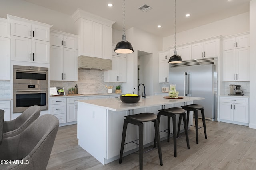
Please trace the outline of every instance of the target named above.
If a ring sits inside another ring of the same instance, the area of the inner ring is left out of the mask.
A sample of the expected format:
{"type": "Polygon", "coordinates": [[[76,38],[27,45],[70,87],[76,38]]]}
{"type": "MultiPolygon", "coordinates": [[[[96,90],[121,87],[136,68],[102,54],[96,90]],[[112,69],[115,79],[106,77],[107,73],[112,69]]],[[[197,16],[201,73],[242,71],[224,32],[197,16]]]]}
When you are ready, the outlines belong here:
{"type": "Polygon", "coordinates": [[[13,66],[13,113],[38,105],[48,109],[48,68],[13,66]]]}

